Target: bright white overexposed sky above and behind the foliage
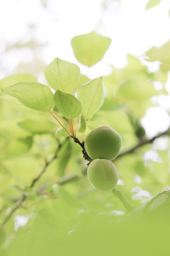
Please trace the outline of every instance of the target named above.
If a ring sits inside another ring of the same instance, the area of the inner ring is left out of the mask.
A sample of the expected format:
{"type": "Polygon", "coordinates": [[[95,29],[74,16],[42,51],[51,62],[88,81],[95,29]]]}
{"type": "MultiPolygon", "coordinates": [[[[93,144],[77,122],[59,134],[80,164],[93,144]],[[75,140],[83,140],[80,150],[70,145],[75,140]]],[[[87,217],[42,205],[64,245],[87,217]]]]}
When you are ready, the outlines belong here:
{"type": "MultiPolygon", "coordinates": [[[[162,46],[170,40],[169,0],[162,0],[160,4],[147,11],[145,7],[148,0],[107,0],[105,9],[101,6],[102,2],[0,0],[0,79],[16,73],[19,62],[31,62],[35,55],[37,58],[41,57],[47,65],[55,57],[74,62],[80,66],[83,74],[88,73],[90,78],[96,78],[109,74],[108,64],[118,68],[124,66],[127,53],[142,56],[152,46],[162,46]],[[36,26],[30,30],[28,24],[36,26]],[[75,59],[70,40],[92,30],[110,37],[112,44],[103,61],[88,69],[75,59]],[[19,51],[14,47],[16,42],[24,43],[31,38],[47,45],[36,52],[29,48],[19,51]],[[11,46],[9,52],[5,52],[6,45],[8,48],[11,46]]],[[[152,69],[154,68],[157,68],[157,64],[152,64],[152,69]]],[[[43,72],[38,79],[39,82],[45,82],[43,72]]],[[[163,102],[165,104],[164,100],[163,102]]],[[[170,100],[164,107],[170,108],[170,100]]],[[[165,114],[164,109],[161,111],[165,114]]],[[[164,117],[162,123],[165,124],[166,120],[167,126],[170,120],[164,114],[161,114],[164,117]]],[[[156,117],[158,121],[158,116],[156,117]]],[[[148,120],[145,119],[143,124],[149,122],[150,116],[148,120]]],[[[154,123],[154,118],[152,122],[155,127],[158,126],[154,123]]],[[[150,134],[149,130],[147,133],[150,134]]]]}

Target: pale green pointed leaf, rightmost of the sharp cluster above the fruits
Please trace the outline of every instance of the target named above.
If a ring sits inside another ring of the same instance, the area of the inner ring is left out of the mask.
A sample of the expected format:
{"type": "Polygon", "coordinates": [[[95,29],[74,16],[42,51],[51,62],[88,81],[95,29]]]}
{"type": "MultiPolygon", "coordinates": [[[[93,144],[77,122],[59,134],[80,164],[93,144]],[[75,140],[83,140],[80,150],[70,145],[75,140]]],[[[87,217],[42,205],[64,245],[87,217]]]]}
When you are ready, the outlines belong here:
{"type": "Polygon", "coordinates": [[[91,119],[104,102],[102,76],[78,87],[77,98],[82,104],[85,118],[91,119]]]}

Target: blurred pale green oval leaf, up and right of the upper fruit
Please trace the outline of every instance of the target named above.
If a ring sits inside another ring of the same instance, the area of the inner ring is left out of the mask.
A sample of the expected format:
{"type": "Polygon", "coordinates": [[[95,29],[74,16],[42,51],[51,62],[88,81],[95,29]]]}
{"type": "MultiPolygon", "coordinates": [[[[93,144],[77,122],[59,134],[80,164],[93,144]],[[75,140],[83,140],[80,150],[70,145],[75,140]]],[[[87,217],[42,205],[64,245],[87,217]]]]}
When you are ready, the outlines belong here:
{"type": "Polygon", "coordinates": [[[157,92],[150,82],[145,81],[126,81],[117,90],[117,96],[123,99],[146,100],[156,95],[157,92]]]}

